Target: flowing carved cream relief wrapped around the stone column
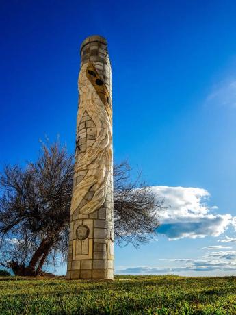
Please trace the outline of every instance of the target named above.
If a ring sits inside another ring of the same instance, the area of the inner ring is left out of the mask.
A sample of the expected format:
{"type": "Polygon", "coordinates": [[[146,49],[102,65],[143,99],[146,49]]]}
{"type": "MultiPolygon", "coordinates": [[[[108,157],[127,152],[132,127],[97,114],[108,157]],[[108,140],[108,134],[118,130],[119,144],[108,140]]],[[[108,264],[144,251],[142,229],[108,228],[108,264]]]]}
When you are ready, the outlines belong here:
{"type": "Polygon", "coordinates": [[[111,99],[105,83],[98,85],[97,80],[101,78],[94,64],[92,62],[84,64],[79,74],[77,121],[81,150],[77,152],[75,173],[81,170],[86,172],[74,185],[71,214],[78,205],[81,214],[91,214],[102,207],[111,178],[112,108],[109,105],[111,99]],[[84,131],[86,123],[93,128],[90,135],[88,131],[84,131]]]}

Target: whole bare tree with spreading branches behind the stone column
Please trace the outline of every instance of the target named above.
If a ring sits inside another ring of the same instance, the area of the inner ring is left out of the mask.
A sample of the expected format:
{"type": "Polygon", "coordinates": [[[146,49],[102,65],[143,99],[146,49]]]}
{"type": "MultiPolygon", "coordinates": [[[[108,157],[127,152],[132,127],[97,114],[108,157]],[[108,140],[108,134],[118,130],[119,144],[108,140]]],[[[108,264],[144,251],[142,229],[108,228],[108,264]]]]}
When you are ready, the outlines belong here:
{"type": "MultiPolygon", "coordinates": [[[[42,145],[26,168],[6,166],[0,175],[0,264],[15,275],[42,274],[44,264],[66,259],[73,157],[58,142],[42,145]]],[[[118,244],[148,242],[163,201],[131,180],[127,162],[114,166],[114,233],[118,244]]]]}

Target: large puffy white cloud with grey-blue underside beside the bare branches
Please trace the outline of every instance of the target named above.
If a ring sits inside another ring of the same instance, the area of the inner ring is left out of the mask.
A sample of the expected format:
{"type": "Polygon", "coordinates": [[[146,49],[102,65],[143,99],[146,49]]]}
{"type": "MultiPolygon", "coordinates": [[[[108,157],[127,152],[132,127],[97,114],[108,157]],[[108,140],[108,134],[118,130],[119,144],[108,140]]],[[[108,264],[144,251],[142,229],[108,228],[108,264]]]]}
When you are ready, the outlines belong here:
{"type": "Polygon", "coordinates": [[[153,190],[171,205],[161,212],[157,230],[169,240],[220,236],[231,224],[231,214],[215,214],[207,205],[210,194],[203,188],[155,186],[153,190]]]}

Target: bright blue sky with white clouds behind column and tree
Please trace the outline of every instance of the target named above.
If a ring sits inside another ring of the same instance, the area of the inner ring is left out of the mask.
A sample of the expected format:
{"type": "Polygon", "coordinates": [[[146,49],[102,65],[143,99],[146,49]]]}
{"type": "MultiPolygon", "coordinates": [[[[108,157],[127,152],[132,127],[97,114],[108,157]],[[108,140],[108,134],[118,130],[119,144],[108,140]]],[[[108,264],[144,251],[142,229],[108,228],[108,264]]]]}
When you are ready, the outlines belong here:
{"type": "Polygon", "coordinates": [[[235,275],[235,1],[8,0],[0,14],[0,166],[35,160],[45,134],[74,151],[79,46],[105,36],[115,160],[172,205],[157,240],[116,247],[116,272],[235,275]]]}

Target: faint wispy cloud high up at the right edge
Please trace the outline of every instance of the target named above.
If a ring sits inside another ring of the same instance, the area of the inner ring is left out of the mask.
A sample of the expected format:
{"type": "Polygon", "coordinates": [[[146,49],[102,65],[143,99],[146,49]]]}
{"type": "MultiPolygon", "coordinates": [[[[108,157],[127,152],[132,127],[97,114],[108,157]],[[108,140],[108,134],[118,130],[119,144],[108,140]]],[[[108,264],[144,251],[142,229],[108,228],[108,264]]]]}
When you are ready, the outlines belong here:
{"type": "Polygon", "coordinates": [[[206,103],[236,108],[236,80],[231,78],[215,85],[207,97],[206,103]]]}

